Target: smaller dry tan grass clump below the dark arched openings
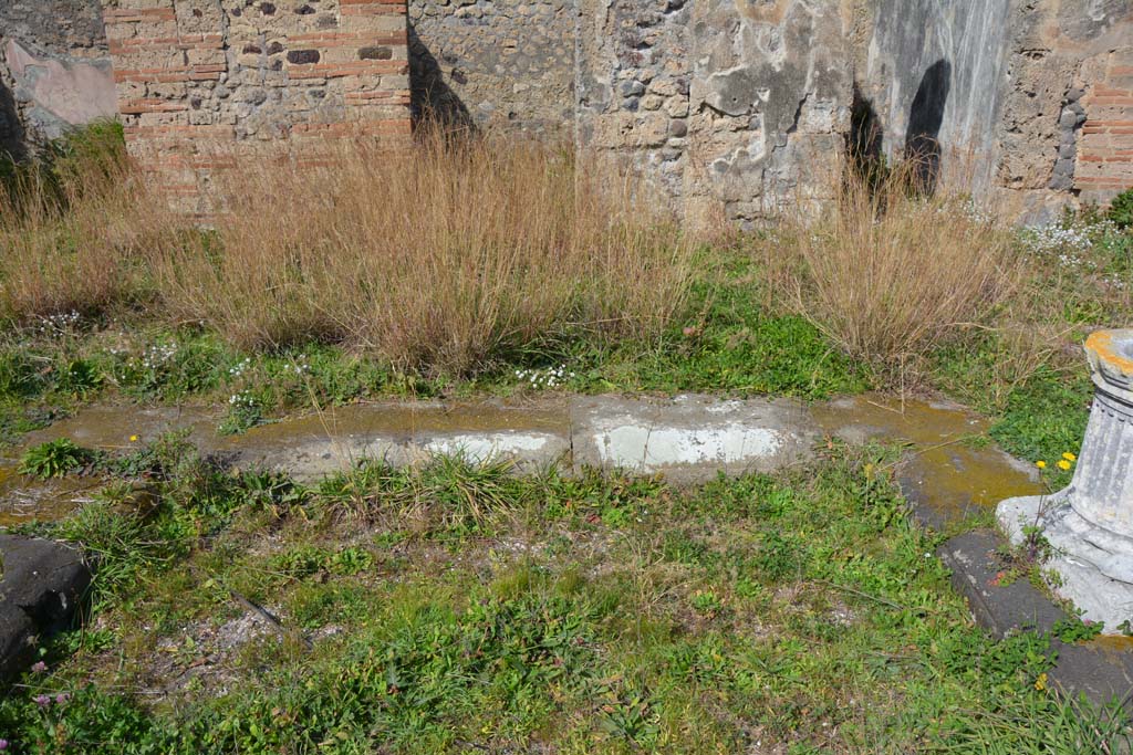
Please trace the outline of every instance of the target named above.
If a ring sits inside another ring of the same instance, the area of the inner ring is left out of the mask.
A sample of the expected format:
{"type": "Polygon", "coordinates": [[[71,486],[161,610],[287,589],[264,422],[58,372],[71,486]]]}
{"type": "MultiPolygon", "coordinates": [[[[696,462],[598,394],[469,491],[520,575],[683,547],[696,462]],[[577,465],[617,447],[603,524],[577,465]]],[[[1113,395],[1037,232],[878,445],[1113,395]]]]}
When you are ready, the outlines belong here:
{"type": "Polygon", "coordinates": [[[791,307],[849,354],[902,377],[963,329],[987,324],[1022,273],[1003,224],[960,195],[910,190],[911,170],[880,182],[846,171],[833,201],[786,218],[767,247],[791,307]]]}

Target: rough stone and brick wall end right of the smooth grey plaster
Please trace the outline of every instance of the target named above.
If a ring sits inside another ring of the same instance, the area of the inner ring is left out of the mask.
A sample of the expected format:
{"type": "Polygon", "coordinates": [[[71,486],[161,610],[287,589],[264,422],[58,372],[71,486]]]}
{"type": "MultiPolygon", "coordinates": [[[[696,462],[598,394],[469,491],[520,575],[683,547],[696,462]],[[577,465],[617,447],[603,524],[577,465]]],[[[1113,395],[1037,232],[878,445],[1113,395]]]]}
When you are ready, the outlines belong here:
{"type": "Polygon", "coordinates": [[[1122,63],[1133,54],[1133,0],[1013,0],[1008,24],[998,192],[1042,218],[1067,196],[1104,203],[1133,186],[1130,153],[1121,154],[1133,147],[1122,134],[1133,122],[1122,63]]]}

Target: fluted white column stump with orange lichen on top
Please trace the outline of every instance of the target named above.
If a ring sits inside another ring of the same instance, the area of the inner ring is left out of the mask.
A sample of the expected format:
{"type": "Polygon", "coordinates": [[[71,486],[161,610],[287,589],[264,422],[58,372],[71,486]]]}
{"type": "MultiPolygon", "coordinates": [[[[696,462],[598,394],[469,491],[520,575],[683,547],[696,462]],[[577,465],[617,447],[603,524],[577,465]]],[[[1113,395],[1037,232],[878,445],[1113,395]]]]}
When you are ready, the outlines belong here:
{"type": "Polygon", "coordinates": [[[1133,331],[1098,331],[1085,354],[1094,394],[1070,486],[1008,498],[997,515],[1016,544],[1040,533],[1055,592],[1118,634],[1133,624],[1133,331]]]}

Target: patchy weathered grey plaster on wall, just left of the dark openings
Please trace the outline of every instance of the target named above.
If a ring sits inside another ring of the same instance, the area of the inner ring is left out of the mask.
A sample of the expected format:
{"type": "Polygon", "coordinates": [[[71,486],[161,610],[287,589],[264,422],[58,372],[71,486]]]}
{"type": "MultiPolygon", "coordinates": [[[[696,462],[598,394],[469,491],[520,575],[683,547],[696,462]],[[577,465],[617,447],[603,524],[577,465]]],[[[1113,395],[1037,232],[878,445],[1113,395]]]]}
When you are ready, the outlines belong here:
{"type": "Polygon", "coordinates": [[[819,190],[843,151],[852,65],[840,6],[704,0],[693,8],[690,194],[753,220],[819,190]]]}

